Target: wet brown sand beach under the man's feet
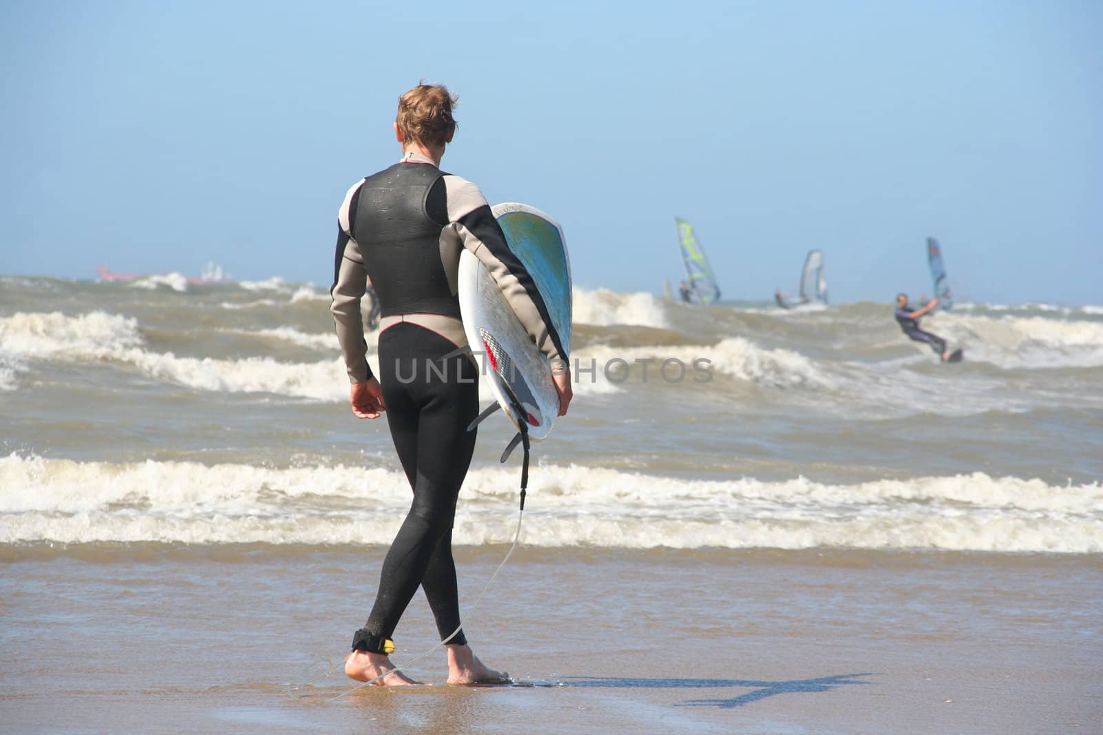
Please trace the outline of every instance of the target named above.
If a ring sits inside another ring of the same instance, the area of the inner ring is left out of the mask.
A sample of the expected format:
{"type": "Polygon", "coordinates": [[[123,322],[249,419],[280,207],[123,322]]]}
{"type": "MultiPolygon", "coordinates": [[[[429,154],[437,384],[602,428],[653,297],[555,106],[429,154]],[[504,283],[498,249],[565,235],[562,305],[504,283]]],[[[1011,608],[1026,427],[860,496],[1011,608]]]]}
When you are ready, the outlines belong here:
{"type": "MultiPolygon", "coordinates": [[[[460,549],[465,607],[506,549],[460,549]]],[[[0,550],[6,733],[1103,732],[1103,560],[518,549],[465,629],[527,687],[340,671],[383,549],[0,550]]],[[[424,598],[396,661],[432,646],[424,598]]]]}

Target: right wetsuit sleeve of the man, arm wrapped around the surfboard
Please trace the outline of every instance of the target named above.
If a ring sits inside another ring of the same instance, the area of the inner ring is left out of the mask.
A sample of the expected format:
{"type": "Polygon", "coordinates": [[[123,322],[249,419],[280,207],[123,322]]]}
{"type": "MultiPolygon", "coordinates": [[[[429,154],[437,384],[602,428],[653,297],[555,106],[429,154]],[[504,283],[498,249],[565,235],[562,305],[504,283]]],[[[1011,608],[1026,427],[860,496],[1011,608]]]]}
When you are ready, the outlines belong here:
{"type": "Polygon", "coordinates": [[[460,176],[446,175],[449,227],[497,282],[513,312],[553,367],[568,358],[547,306],[532,275],[505,242],[505,234],[479,187],[460,176]]]}

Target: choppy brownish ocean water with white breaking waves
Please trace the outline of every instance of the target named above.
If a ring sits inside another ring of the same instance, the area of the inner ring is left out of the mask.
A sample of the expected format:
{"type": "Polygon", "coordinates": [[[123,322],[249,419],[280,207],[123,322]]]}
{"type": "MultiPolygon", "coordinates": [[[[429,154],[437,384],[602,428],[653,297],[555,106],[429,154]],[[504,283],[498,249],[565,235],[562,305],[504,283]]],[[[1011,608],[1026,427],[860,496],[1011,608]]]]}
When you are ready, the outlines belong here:
{"type": "MultiPolygon", "coordinates": [[[[389,543],[409,489],[385,420],[349,409],[329,303],[278,279],[0,277],[0,555],[389,543]]],[[[885,303],[578,289],[575,315],[526,547],[1103,552],[1103,306],[924,320],[959,365],[885,303]]],[[[480,428],[458,544],[513,538],[511,435],[480,428]]]]}

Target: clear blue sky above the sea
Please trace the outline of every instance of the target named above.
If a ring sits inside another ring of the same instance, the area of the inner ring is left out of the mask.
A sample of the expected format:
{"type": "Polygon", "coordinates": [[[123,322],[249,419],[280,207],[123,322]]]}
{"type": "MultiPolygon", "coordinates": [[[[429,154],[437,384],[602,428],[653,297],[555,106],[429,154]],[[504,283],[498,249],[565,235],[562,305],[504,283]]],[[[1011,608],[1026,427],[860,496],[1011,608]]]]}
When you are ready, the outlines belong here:
{"type": "Polygon", "coordinates": [[[328,287],[397,96],[461,97],[442,163],[557,217],[575,282],[657,292],[693,223],[726,298],[1101,303],[1103,3],[0,4],[0,273],[328,287]]]}

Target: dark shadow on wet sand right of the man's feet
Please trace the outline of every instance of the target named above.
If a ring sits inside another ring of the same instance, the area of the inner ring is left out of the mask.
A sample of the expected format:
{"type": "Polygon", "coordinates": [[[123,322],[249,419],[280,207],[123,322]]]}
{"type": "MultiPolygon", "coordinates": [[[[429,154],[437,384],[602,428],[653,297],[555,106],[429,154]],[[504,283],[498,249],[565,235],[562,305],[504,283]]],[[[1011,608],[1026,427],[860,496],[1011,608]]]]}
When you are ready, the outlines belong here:
{"type": "Polygon", "coordinates": [[[847,684],[868,684],[857,681],[858,677],[870,673],[845,673],[818,679],[792,679],[790,681],[761,681],[757,679],[631,679],[620,677],[567,677],[560,680],[563,687],[609,688],[609,689],[721,689],[728,687],[751,688],[753,691],[726,699],[687,700],[678,706],[740,707],[751,702],[764,700],[774,694],[807,694],[829,692],[847,684]]]}

